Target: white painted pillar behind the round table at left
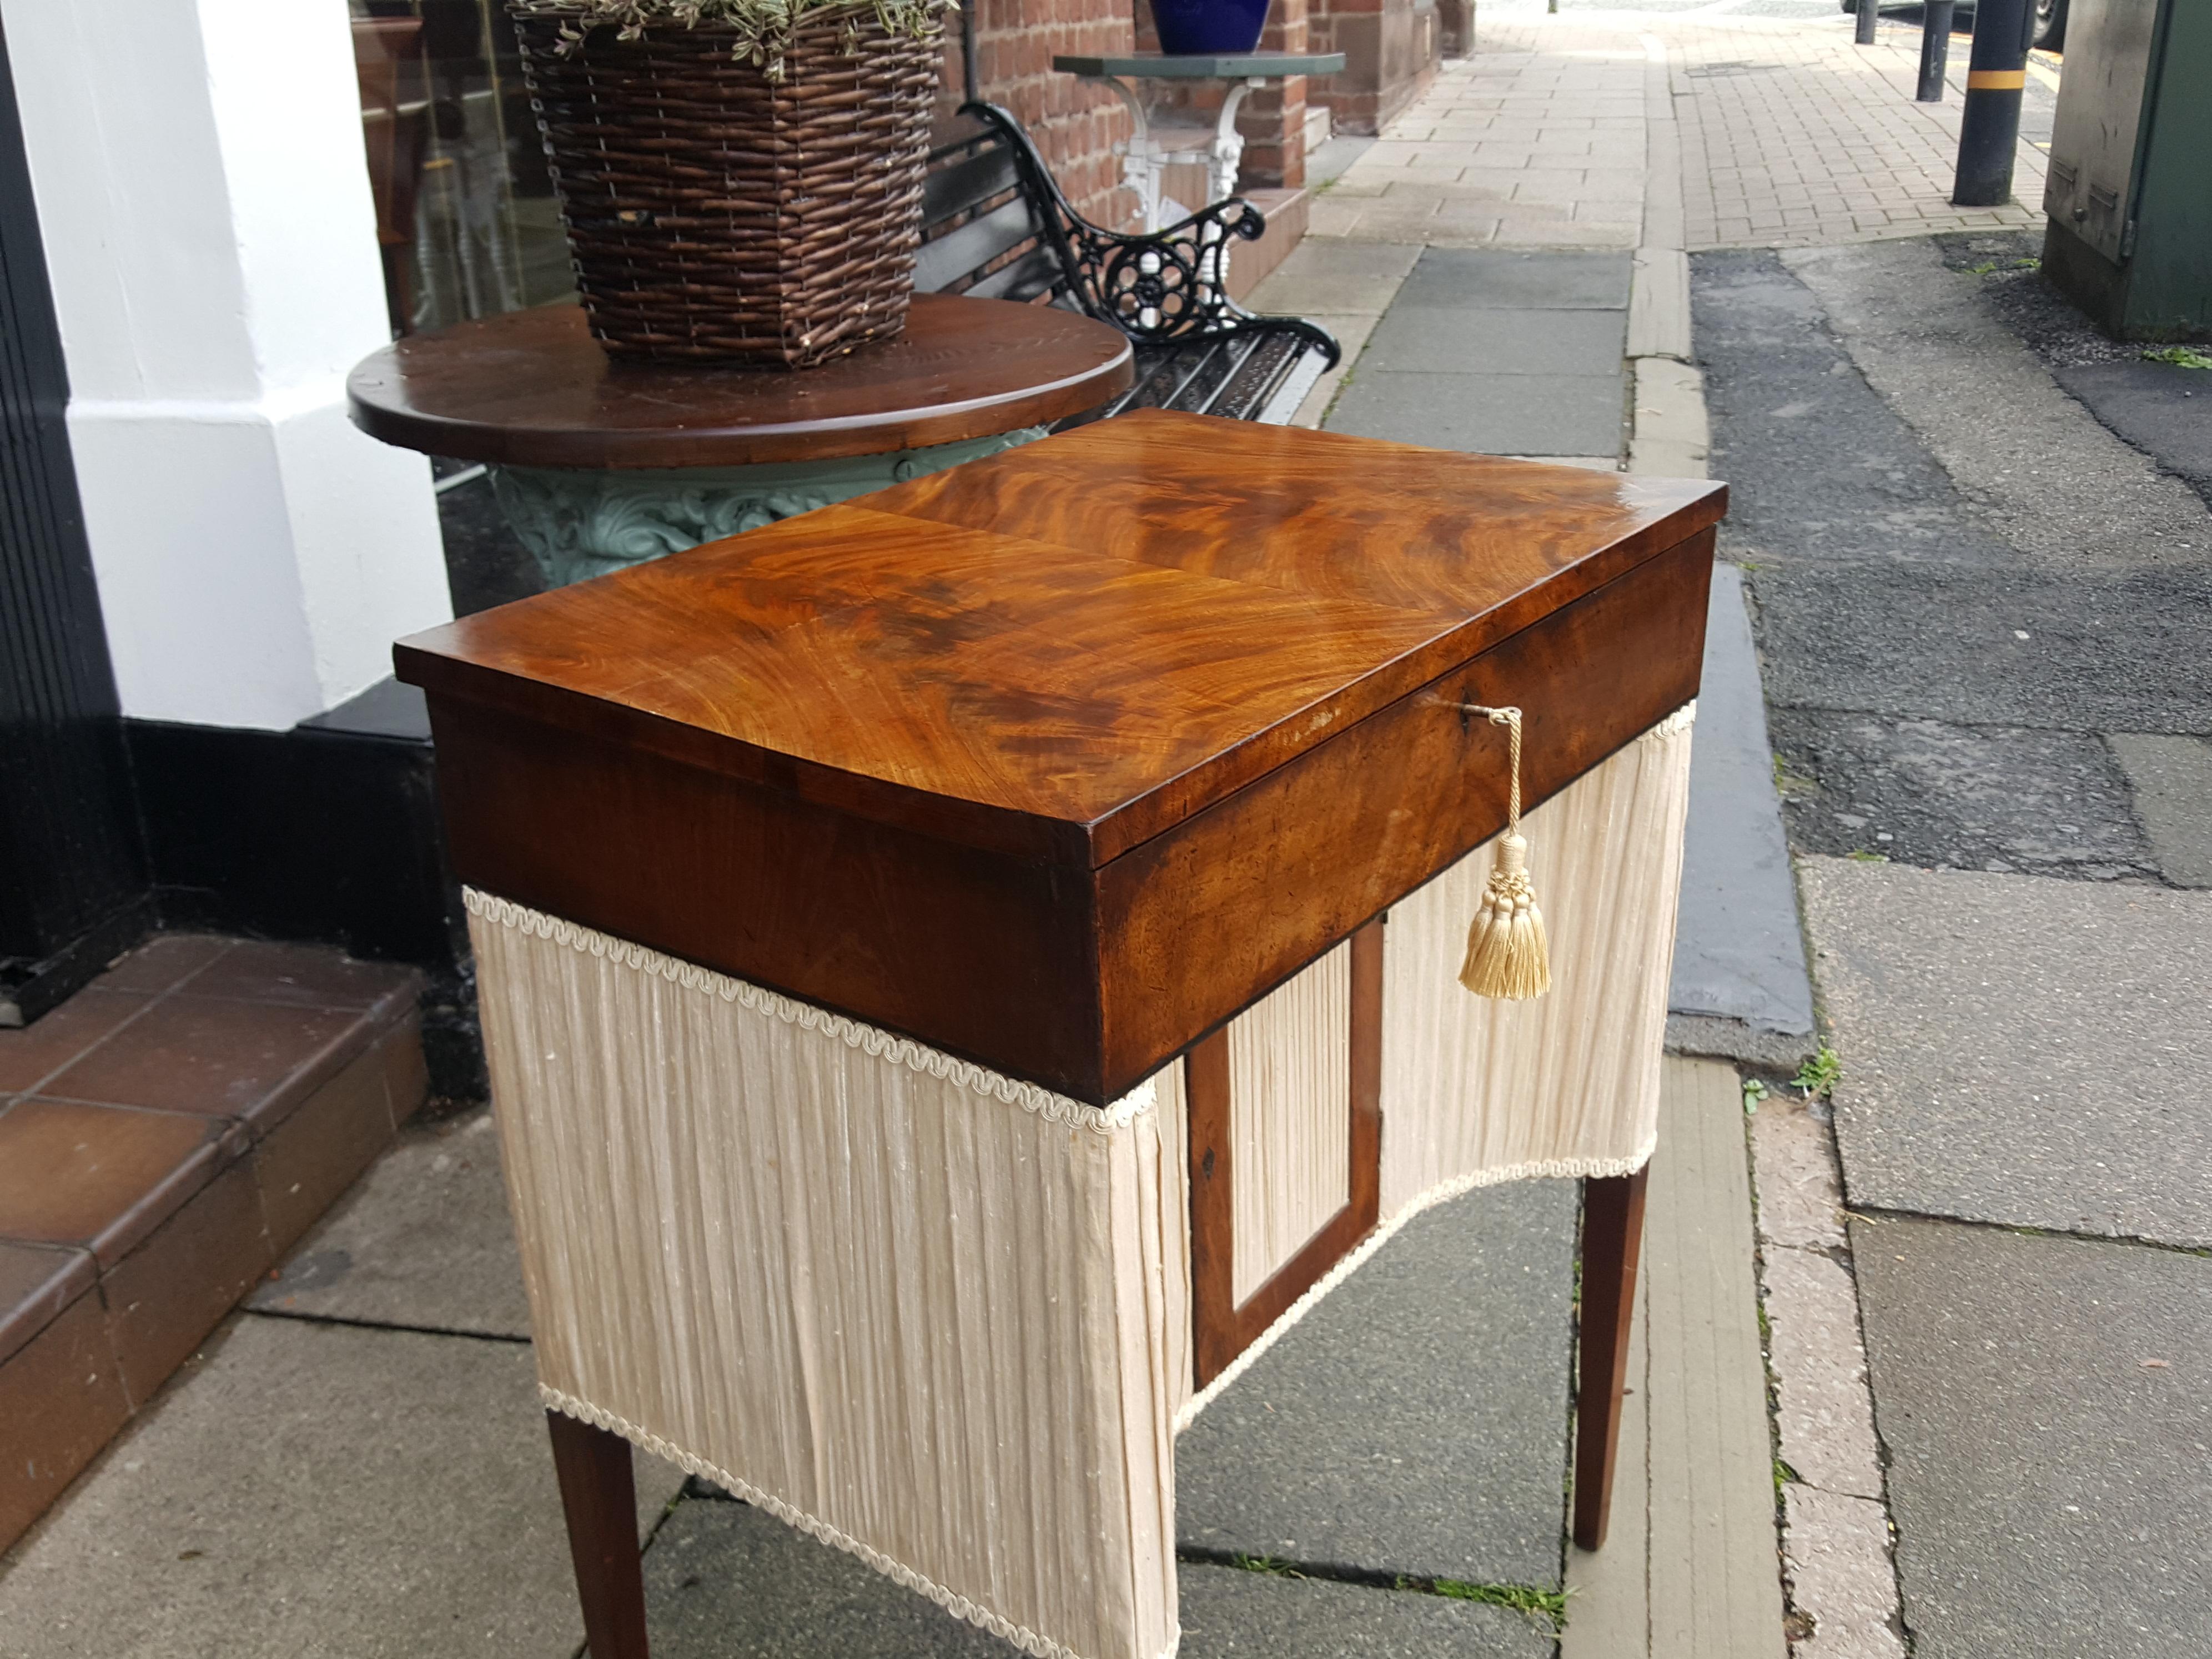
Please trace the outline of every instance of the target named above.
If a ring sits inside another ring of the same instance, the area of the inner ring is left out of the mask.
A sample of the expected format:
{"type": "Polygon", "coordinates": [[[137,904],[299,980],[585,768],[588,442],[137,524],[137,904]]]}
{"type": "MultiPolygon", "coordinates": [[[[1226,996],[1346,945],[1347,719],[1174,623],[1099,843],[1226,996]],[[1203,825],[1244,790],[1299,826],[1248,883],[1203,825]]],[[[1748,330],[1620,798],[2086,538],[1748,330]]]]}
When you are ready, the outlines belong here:
{"type": "Polygon", "coordinates": [[[451,615],[389,338],[345,0],[0,0],[124,714],[283,730],[451,615]]]}

